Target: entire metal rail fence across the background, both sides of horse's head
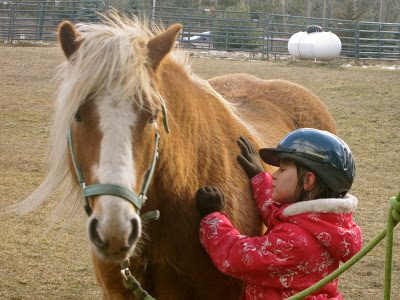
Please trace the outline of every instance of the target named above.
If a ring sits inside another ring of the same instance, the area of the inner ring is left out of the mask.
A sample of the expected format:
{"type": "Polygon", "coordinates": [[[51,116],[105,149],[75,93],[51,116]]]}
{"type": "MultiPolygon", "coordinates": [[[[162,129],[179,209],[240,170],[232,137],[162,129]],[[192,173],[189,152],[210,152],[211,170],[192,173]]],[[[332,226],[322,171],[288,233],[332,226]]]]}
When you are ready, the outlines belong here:
{"type": "MultiPolygon", "coordinates": [[[[0,41],[54,40],[56,26],[62,20],[96,22],[97,11],[107,7],[95,0],[0,0],[0,41]]],[[[168,26],[179,22],[182,47],[246,51],[262,58],[289,55],[291,35],[319,25],[339,36],[341,57],[400,60],[400,24],[354,22],[349,20],[266,15],[263,12],[229,12],[209,9],[154,7],[146,15],[153,23],[168,26]]]]}

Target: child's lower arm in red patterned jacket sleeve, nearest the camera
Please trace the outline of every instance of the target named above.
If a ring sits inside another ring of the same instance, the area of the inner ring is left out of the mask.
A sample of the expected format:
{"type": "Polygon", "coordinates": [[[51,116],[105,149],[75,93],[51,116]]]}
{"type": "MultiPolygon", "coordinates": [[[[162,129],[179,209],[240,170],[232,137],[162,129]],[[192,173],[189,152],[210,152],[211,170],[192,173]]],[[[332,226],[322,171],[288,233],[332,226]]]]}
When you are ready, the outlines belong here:
{"type": "Polygon", "coordinates": [[[275,226],[261,237],[240,235],[227,216],[219,212],[202,219],[200,241],[221,272],[248,283],[270,286],[280,286],[281,275],[307,257],[306,246],[310,244],[301,228],[289,223],[275,226]]]}

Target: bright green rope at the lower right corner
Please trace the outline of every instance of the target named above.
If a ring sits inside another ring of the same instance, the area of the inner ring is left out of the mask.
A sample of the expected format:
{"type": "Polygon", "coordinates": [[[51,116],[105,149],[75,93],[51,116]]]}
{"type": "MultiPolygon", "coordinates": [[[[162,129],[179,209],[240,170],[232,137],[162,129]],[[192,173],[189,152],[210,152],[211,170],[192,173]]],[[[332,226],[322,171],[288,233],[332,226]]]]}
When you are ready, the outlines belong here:
{"type": "Polygon", "coordinates": [[[361,260],[365,255],[367,255],[376,245],[378,245],[387,235],[388,239],[386,242],[386,262],[385,262],[385,290],[384,290],[384,299],[390,299],[390,288],[391,288],[391,271],[392,271],[392,248],[393,248],[393,228],[400,221],[400,193],[397,197],[391,197],[389,199],[390,208],[388,213],[387,220],[387,228],[382,230],[372,241],[370,241],[366,246],[364,246],[360,252],[354,255],[351,259],[349,259],[346,263],[341,265],[334,272],[318,281],[314,285],[309,288],[301,291],[300,293],[287,298],[287,300],[300,300],[303,299],[312,293],[315,293],[329,282],[339,277],[342,273],[346,272],[350,269],[356,262],[361,260]],[[390,248],[390,249],[389,249],[390,248]]]}

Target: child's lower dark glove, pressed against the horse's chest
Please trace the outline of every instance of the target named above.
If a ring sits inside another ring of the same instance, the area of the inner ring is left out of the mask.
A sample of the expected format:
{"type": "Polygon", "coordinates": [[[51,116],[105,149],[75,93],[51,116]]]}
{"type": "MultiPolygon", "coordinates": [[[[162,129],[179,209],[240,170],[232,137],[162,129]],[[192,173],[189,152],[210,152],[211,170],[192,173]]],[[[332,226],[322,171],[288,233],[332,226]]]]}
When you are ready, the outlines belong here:
{"type": "Polygon", "coordinates": [[[196,193],[196,208],[202,218],[213,212],[223,211],[224,195],[217,187],[202,187],[196,193]]]}

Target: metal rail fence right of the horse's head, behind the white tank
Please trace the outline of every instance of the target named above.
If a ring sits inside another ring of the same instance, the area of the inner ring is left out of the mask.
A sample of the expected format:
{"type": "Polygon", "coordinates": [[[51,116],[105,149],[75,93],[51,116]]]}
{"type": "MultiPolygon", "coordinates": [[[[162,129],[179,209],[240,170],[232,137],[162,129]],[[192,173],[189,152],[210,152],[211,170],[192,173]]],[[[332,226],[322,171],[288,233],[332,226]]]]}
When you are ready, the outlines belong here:
{"type": "Polygon", "coordinates": [[[261,53],[263,58],[289,55],[287,44],[308,25],[331,31],[342,42],[341,57],[400,60],[400,24],[308,18],[260,12],[237,13],[156,7],[153,21],[183,24],[180,43],[185,47],[261,53]]]}

